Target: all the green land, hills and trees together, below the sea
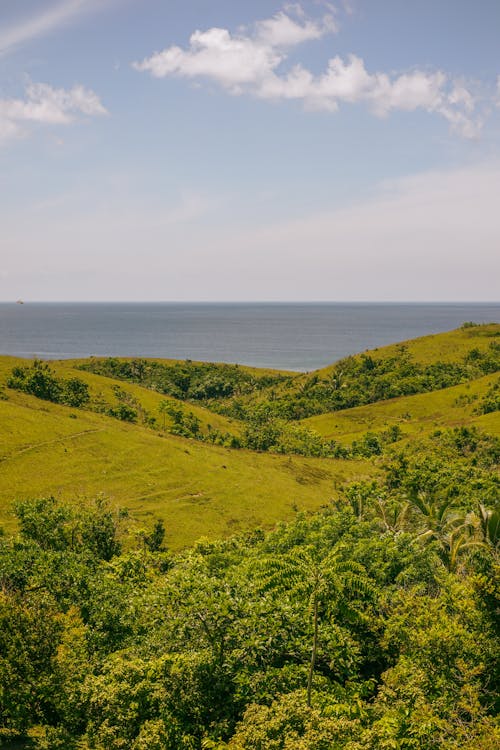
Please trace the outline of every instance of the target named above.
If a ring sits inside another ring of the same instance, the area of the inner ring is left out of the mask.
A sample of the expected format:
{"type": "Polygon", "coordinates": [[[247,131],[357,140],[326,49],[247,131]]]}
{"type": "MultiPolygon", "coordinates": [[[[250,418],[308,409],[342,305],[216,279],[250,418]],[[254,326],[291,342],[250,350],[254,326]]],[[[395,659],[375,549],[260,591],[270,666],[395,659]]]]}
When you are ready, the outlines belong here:
{"type": "Polygon", "coordinates": [[[496,750],[497,334],[297,376],[6,362],[0,745],[496,750]]]}

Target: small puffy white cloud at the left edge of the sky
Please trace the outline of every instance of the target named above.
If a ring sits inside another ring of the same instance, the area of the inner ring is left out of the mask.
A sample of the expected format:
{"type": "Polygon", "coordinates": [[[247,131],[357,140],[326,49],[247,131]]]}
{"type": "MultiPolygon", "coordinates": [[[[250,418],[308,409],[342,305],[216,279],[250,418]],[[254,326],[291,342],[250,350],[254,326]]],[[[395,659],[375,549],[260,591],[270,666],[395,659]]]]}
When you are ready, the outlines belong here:
{"type": "Polygon", "coordinates": [[[47,83],[31,83],[23,99],[0,99],[0,143],[24,134],[24,125],[67,125],[77,115],[104,115],[106,109],[90,89],[76,85],[55,89],[47,83]]]}

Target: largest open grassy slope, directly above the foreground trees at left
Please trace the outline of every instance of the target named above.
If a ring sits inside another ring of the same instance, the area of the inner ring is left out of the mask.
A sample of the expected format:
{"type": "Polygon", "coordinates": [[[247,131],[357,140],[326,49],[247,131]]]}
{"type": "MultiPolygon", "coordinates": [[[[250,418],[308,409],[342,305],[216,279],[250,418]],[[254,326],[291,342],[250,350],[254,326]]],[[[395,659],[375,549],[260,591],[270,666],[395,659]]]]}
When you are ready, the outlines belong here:
{"type": "Polygon", "coordinates": [[[173,548],[271,526],[373,475],[368,462],[232,451],[9,392],[0,401],[0,523],[16,498],[102,492],[138,519],[164,519],[173,548]],[[76,418],[71,415],[76,414],[76,418]]]}

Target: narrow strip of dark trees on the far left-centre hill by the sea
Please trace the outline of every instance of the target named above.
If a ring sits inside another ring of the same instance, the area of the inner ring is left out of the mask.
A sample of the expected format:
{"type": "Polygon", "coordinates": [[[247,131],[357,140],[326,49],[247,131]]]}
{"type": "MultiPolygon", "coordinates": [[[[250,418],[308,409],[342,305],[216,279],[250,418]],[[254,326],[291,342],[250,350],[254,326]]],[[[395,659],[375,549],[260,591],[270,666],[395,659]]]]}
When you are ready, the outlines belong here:
{"type": "Polygon", "coordinates": [[[259,392],[286,382],[286,375],[257,374],[239,365],[211,362],[158,362],[147,359],[92,358],[82,370],[151,388],[181,400],[216,401],[259,392]]]}

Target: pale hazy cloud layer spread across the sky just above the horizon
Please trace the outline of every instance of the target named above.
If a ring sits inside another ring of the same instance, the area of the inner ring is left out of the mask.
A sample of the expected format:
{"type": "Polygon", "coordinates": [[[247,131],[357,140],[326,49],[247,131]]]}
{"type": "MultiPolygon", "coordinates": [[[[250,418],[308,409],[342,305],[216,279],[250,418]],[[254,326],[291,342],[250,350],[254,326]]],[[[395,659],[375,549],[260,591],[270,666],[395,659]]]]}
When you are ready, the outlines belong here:
{"type": "Polygon", "coordinates": [[[229,225],[236,196],[152,202],[117,196],[115,183],[97,190],[97,205],[65,193],[3,217],[0,298],[498,299],[498,163],[386,182],[341,209],[229,225]]]}

